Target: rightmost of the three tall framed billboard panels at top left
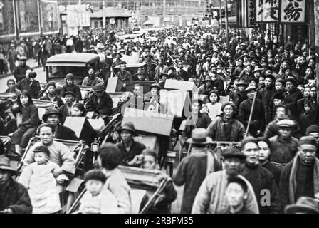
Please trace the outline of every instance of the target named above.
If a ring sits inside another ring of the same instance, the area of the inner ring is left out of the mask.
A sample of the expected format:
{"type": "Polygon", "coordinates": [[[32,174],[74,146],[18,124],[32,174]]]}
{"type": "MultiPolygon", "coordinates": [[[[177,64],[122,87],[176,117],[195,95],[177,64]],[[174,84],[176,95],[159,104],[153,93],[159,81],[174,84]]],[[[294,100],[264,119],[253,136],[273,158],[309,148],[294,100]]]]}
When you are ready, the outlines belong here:
{"type": "Polygon", "coordinates": [[[43,33],[58,32],[58,2],[41,1],[43,33]]]}

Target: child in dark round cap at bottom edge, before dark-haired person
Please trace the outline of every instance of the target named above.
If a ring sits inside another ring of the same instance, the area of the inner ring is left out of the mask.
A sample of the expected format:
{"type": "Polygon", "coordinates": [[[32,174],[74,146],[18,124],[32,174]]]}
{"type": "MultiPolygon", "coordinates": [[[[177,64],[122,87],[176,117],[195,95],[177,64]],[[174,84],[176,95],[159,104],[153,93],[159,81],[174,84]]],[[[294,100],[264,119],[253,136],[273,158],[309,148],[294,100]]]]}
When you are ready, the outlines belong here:
{"type": "Polygon", "coordinates": [[[86,192],[80,200],[80,214],[117,214],[117,199],[103,187],[106,177],[100,170],[90,170],[84,175],[86,192]]]}

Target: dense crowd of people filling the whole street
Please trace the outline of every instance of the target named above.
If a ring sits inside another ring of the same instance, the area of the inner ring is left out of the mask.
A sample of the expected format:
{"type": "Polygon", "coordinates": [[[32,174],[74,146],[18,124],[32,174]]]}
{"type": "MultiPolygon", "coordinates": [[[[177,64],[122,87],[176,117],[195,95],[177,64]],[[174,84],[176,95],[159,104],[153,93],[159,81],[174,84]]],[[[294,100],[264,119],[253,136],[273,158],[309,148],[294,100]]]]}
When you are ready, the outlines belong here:
{"type": "MultiPolygon", "coordinates": [[[[315,52],[291,37],[274,41],[265,31],[248,36],[240,29],[230,29],[229,34],[228,45],[224,31],[214,34],[212,28],[201,26],[150,32],[142,41],[127,43],[114,32],[100,36],[87,49],[100,56],[100,76],[90,68],[82,83],[92,86],[93,93],[82,98],[74,75],[68,73],[60,94],[55,83],[46,85],[40,99],[53,102],[54,107],[47,108],[42,117],[33,104],[41,90],[34,79],[36,73],[26,66],[26,58],[20,57],[15,80],[7,82],[6,93],[13,96],[0,104],[0,135],[13,133],[11,143],[20,155],[33,134],[41,140],[27,151],[17,182],[8,158],[0,157],[1,212],[61,212],[58,187],[75,174],[75,160],[68,147],[53,138],[83,140],[63,125],[68,116],[85,117],[88,112],[93,112],[93,118],[113,115],[115,107],[105,87],[110,78],[117,77],[123,83],[122,91],[127,91],[127,81],[137,81],[122,103],[167,115],[174,115],[160,98],[167,79],[192,82],[198,88],[198,92],[190,92],[192,111],[184,116],[179,137],[189,155],[178,164],[150,212],[169,213],[177,199],[176,186],[184,185],[181,213],[185,214],[318,214],[315,52]],[[137,73],[127,71],[127,63],[121,59],[134,55],[145,63],[137,73]],[[115,73],[116,66],[120,70],[115,73]],[[144,95],[138,81],[154,81],[150,93],[144,95]],[[16,120],[15,113],[22,114],[22,121],[9,129],[6,118],[16,120]],[[234,142],[234,147],[221,152],[223,162],[217,156],[218,148],[207,147],[214,142],[234,142]],[[17,192],[15,198],[9,188],[17,192]]],[[[73,51],[71,43],[66,41],[67,52],[73,51]]],[[[172,137],[179,130],[177,125],[172,137]]],[[[117,138],[115,134],[100,145],[98,164],[94,165],[100,169],[90,167],[86,172],[88,191],[77,213],[132,212],[130,186],[118,165],[147,170],[163,167],[161,153],[134,139],[138,135],[135,127],[125,123],[117,128],[117,138]]],[[[92,142],[95,135],[91,136],[86,143],[92,142]]],[[[168,149],[161,148],[164,152],[168,149]]]]}

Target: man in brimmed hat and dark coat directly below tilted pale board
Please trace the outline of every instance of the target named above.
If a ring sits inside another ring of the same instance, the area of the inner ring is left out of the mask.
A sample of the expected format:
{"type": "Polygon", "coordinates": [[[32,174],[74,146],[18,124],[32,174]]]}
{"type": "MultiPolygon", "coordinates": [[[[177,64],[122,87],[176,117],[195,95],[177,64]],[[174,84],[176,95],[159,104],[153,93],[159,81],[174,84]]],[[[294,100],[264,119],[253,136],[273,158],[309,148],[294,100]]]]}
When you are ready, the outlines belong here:
{"type": "Polygon", "coordinates": [[[127,122],[122,125],[118,133],[120,134],[121,142],[118,142],[116,146],[122,153],[121,165],[140,167],[138,155],[146,147],[144,144],[134,140],[133,137],[138,136],[135,126],[131,122],[127,122]]]}

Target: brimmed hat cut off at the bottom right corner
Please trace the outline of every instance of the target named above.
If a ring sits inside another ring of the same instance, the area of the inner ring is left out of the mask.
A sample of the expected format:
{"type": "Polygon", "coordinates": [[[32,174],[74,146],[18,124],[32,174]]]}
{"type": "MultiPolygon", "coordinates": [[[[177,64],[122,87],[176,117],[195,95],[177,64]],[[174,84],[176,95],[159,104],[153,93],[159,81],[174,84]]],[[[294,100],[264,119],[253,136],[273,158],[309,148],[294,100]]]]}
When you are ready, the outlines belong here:
{"type": "Polygon", "coordinates": [[[319,214],[319,204],[318,202],[310,197],[300,197],[296,204],[288,205],[285,208],[286,214],[319,214]]]}

